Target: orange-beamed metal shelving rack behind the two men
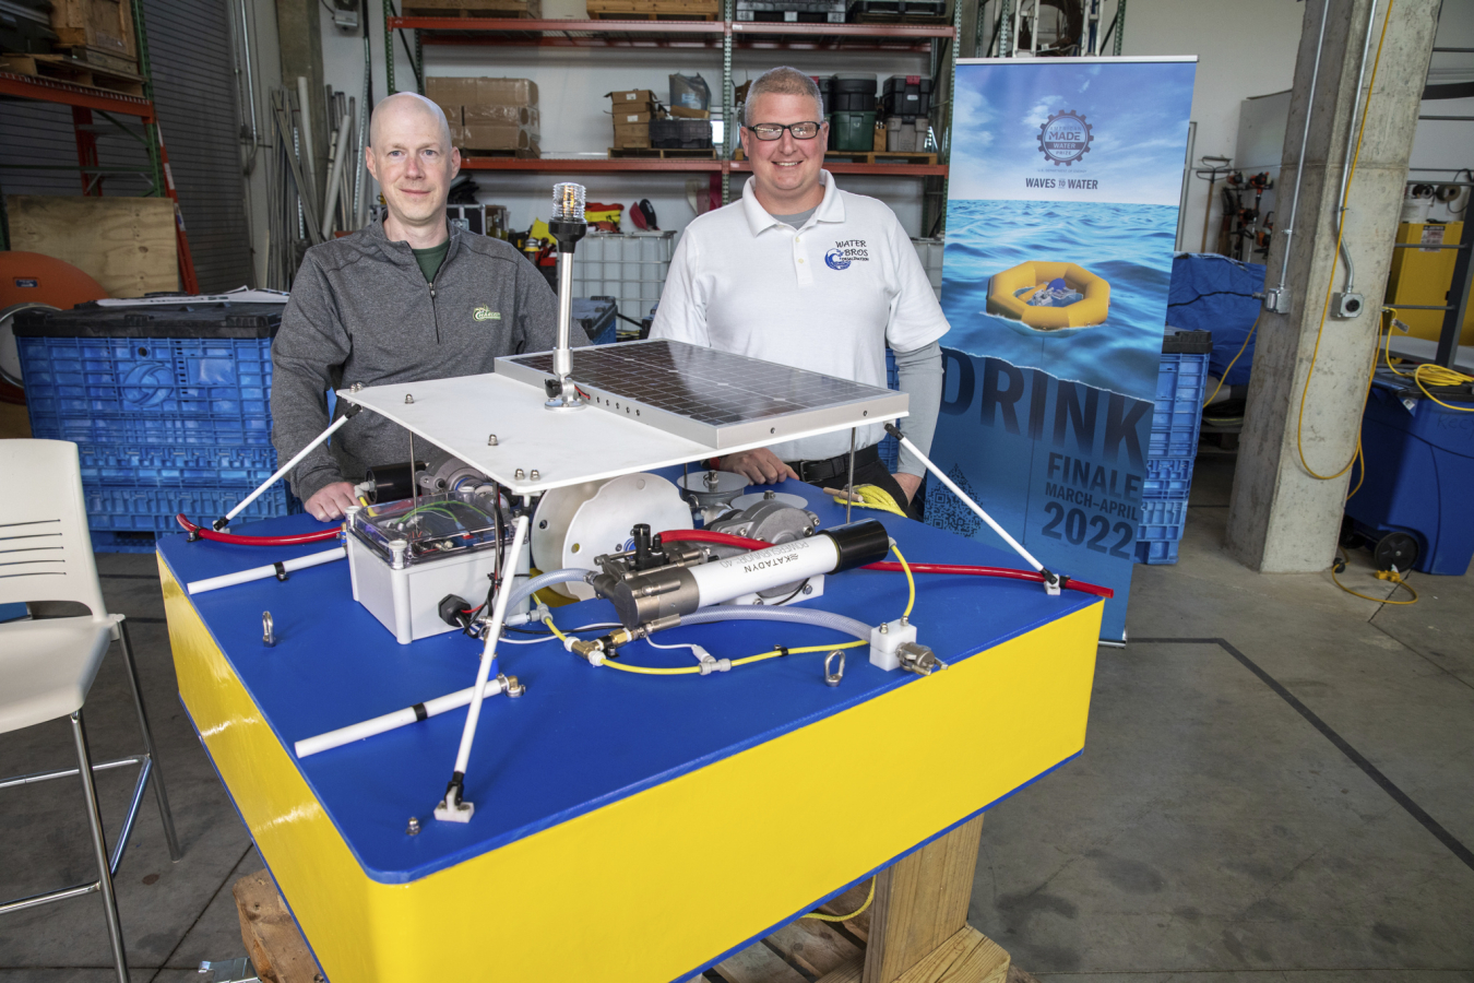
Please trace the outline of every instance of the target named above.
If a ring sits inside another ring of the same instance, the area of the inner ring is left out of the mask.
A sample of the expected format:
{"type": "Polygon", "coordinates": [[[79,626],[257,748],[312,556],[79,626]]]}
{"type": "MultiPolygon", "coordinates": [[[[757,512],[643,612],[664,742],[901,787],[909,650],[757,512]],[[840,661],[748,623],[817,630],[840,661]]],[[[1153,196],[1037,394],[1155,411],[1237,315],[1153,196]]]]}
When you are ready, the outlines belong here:
{"type": "MultiPolygon", "coordinates": [[[[963,4],[954,3],[951,24],[774,24],[733,19],[733,0],[724,0],[722,21],[575,21],[510,18],[423,18],[397,16],[392,0],[385,0],[385,50],[394,50],[394,32],[413,34],[414,72],[425,78],[426,44],[523,46],[585,49],[722,49],[722,118],[731,119],[733,50],[820,50],[820,52],[904,52],[927,55],[937,93],[933,127],[939,134],[939,164],[852,164],[825,162],[833,174],[876,174],[914,177],[924,181],[923,231],[932,230],[946,208],[948,152],[951,149],[951,84],[957,63],[957,37],[963,4]]],[[[411,49],[411,44],[405,44],[411,49]]],[[[395,91],[394,59],[386,65],[388,88],[395,91]]],[[[423,83],[422,83],[423,88],[423,83]]],[[[422,93],[423,94],[423,93],[422,93]]],[[[731,200],[731,175],[750,171],[733,159],[736,141],[715,159],[591,159],[591,158],[492,158],[466,156],[461,167],[473,171],[534,171],[557,174],[610,174],[656,171],[672,174],[721,174],[722,202],[731,200]]]]}

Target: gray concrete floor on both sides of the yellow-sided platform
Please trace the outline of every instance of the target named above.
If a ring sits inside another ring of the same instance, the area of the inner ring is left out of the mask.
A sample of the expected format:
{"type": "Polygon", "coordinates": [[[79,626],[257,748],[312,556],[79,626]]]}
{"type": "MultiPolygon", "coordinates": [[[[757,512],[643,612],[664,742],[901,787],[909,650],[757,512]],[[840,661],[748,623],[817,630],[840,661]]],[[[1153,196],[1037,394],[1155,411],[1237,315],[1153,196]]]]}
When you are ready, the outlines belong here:
{"type": "MultiPolygon", "coordinates": [[[[1228,560],[1231,457],[1198,461],[1176,566],[1136,567],[1101,648],[1085,753],[988,815],[971,923],[1045,983],[1474,983],[1471,578],[1390,607],[1228,560]]],[[[1386,595],[1363,557],[1347,585],[1386,595]]],[[[243,955],[230,884],[259,858],[174,694],[146,556],[99,557],[128,615],[186,856],[144,808],[118,875],[136,980],[243,955]]],[[[119,660],[93,753],[136,747],[119,660]]],[[[0,775],[71,762],[65,724],[0,738],[0,775]]],[[[115,830],[131,778],[99,778],[115,830]]],[[[0,794],[0,898],[90,875],[71,781],[0,794]]],[[[0,983],[111,980],[96,898],[0,918],[0,983]]],[[[351,983],[351,982],[340,982],[351,983]]]]}

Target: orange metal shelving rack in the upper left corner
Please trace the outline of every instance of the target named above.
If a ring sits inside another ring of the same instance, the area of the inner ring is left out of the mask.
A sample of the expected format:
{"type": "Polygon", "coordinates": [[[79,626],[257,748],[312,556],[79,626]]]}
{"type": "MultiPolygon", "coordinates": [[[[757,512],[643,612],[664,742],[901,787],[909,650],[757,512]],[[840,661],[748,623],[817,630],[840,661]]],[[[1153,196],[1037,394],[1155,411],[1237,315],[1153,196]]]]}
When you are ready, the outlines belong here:
{"type": "MultiPolygon", "coordinates": [[[[37,169],[59,171],[75,169],[81,175],[84,196],[102,196],[102,181],[111,174],[142,174],[149,180],[150,190],[144,197],[168,197],[174,202],[174,237],[178,248],[180,284],[186,293],[199,293],[199,281],[195,277],[195,261],[190,256],[189,236],[184,231],[184,218],[180,214],[180,199],[174,189],[174,175],[170,171],[170,155],[164,147],[164,134],[159,131],[159,118],[153,109],[153,78],[149,65],[149,40],[143,25],[143,4],[133,6],[133,29],[137,37],[139,75],[143,77],[143,96],[115,93],[93,85],[44,78],[37,75],[21,75],[18,72],[0,71],[0,97],[27,99],[31,102],[49,102],[71,106],[72,131],[77,137],[77,165],[63,164],[7,164],[3,169],[37,169]],[[105,167],[97,159],[97,124],[93,113],[99,113],[105,121],[128,134],[143,144],[149,155],[147,167],[105,167]],[[142,133],[122,122],[122,118],[134,118],[142,127],[142,133]]],[[[0,192],[0,220],[4,218],[4,196],[0,192]]],[[[0,248],[10,248],[9,224],[0,221],[0,248]]]]}

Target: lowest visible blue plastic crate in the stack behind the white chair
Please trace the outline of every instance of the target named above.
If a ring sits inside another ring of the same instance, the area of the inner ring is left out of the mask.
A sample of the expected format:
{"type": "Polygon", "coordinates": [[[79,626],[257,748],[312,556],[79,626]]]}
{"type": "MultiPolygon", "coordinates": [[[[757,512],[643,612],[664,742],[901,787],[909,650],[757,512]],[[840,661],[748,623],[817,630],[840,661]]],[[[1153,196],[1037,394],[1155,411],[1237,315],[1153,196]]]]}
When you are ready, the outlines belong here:
{"type": "MultiPolygon", "coordinates": [[[[177,532],[174,516],[184,513],[208,523],[230,511],[255,485],[214,488],[143,488],[137,485],[83,485],[87,525],[93,532],[177,532]]],[[[237,516],[239,522],[274,519],[302,510],[282,482],[256,498],[237,516]]]]}

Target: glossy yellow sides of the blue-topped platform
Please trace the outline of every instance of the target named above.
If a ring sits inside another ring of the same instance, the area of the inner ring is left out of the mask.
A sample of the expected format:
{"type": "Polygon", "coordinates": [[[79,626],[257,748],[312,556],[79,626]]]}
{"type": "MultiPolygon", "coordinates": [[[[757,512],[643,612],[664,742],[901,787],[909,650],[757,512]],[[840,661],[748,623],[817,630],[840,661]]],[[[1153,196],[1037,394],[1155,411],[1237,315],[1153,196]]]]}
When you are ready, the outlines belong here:
{"type": "Polygon", "coordinates": [[[423,880],[382,884],[162,563],[161,576],[184,704],[336,983],[682,977],[1079,752],[1103,610],[423,880]]]}

